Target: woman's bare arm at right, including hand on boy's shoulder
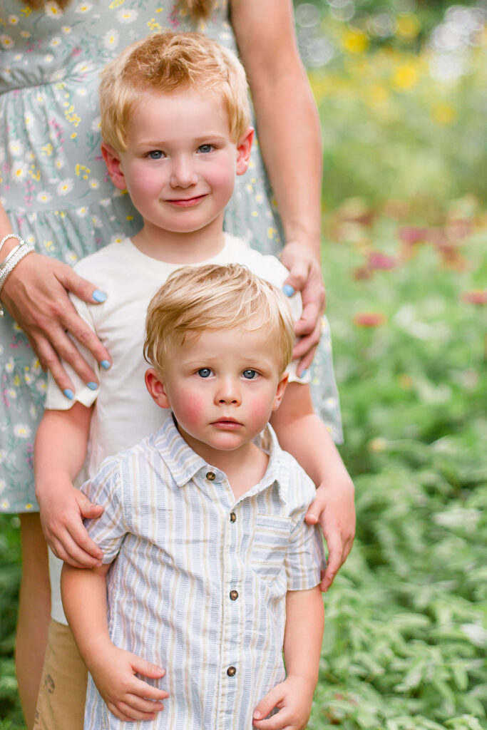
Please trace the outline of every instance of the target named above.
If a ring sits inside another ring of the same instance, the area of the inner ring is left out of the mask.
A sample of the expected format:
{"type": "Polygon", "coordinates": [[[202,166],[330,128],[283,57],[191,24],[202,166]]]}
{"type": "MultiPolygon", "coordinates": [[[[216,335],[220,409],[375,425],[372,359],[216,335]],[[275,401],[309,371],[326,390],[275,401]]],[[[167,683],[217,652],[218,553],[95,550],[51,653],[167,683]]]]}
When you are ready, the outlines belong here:
{"type": "Polygon", "coordinates": [[[299,58],[291,0],[231,0],[231,24],[247,72],[261,153],[283,218],[286,280],[302,291],[303,369],[320,337],[325,291],[321,276],[321,129],[299,58]]]}

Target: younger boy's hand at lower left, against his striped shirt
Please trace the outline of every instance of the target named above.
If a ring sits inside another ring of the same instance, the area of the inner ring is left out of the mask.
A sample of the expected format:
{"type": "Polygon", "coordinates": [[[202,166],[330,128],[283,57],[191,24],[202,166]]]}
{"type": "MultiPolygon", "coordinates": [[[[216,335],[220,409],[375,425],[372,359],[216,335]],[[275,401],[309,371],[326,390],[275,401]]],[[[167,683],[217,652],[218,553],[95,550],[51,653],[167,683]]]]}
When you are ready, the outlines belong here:
{"type": "Polygon", "coordinates": [[[144,677],[160,679],[166,674],[160,666],[111,643],[98,650],[95,660],[87,666],[103,701],[119,720],[155,720],[156,712],[164,710],[161,700],[169,694],[135,676],[139,672],[144,677]]]}

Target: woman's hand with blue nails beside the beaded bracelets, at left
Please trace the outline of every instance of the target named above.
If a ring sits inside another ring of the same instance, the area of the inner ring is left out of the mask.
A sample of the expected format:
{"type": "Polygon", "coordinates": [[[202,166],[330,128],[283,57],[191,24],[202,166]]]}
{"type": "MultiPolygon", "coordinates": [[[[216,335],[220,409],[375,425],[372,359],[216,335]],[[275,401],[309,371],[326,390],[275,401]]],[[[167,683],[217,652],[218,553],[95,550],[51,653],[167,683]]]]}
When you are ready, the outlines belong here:
{"type": "Polygon", "coordinates": [[[98,383],[98,377],[78,352],[66,332],[101,361],[110,354],[93,330],[77,315],[68,291],[83,301],[99,304],[106,296],[78,276],[70,266],[49,256],[31,253],[15,266],[1,290],[1,301],[26,333],[42,368],[50,370],[61,391],[73,390],[61,358],[83,378],[98,383]]]}

